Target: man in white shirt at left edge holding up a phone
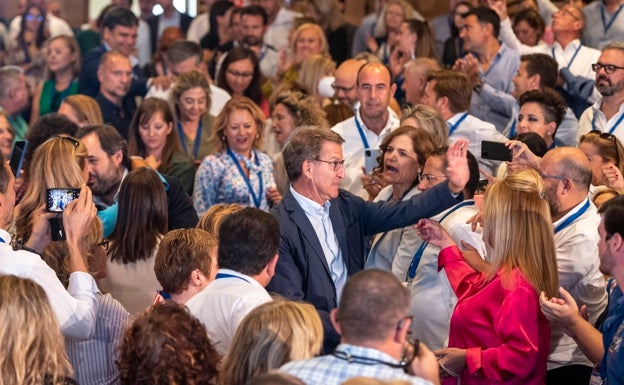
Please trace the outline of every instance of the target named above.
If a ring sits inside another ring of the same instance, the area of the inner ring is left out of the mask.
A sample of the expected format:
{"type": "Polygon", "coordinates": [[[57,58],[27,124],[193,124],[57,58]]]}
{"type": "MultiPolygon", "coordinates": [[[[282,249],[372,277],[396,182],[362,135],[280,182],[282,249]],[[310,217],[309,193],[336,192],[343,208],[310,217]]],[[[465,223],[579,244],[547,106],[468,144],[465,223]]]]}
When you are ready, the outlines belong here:
{"type": "Polygon", "coordinates": [[[0,156],[0,274],[29,278],[45,290],[63,335],[75,339],[88,339],[95,331],[98,292],[95,280],[88,273],[85,263],[87,250],[81,240],[85,238],[95,219],[96,210],[91,190],[80,189],[78,199],[69,203],[63,211],[63,228],[67,237],[67,249],[71,274],[67,290],[39,255],[50,243],[51,214],[38,209],[34,224],[23,250],[14,251],[11,236],[6,231],[13,221],[15,207],[15,178],[0,156]]]}

